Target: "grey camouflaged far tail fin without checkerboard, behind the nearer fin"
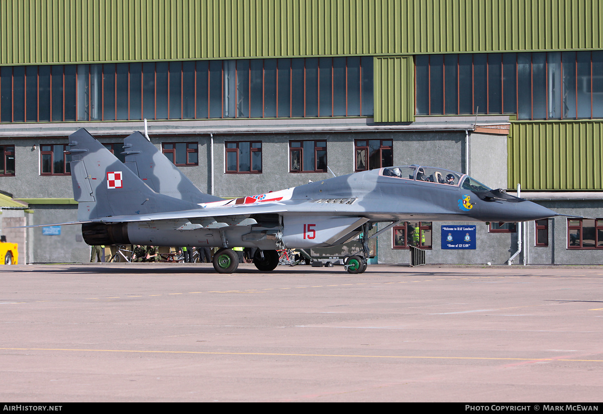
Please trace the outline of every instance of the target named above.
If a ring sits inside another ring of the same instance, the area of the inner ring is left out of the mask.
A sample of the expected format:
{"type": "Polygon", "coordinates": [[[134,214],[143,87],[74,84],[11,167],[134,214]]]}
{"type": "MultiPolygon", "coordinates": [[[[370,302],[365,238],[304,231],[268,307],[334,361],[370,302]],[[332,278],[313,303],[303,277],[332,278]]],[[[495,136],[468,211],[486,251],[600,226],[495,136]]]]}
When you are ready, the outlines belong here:
{"type": "Polygon", "coordinates": [[[140,132],[124,139],[125,165],[159,194],[192,203],[223,200],[202,193],[155,145],[140,132]]]}

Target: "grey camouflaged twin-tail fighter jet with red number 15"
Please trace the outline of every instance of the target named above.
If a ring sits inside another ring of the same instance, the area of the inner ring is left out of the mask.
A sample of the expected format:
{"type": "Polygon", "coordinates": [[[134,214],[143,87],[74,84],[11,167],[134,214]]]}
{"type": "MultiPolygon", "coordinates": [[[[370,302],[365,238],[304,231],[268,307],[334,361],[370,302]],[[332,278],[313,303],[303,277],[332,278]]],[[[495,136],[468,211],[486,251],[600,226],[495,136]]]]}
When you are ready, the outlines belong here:
{"type": "MultiPolygon", "coordinates": [[[[127,155],[144,153],[127,144],[127,155]]],[[[418,165],[362,171],[232,200],[203,194],[178,173],[165,180],[178,183],[180,194],[172,194],[174,188],[153,180],[160,175],[148,175],[153,168],[148,159],[145,165],[144,156],[136,160],[141,179],[85,129],[69,136],[69,146],[79,204],[76,223],[82,224],[86,243],[220,247],[213,257],[219,273],[238,267],[229,246],[257,247],[255,266],[270,271],[279,263],[276,249],[336,246],[362,234],[364,253],[348,258],[346,266],[350,273],[361,273],[374,223],[387,226],[371,237],[407,220],[515,222],[556,215],[465,174],[418,165]]],[[[156,165],[163,165],[163,159],[157,158],[156,165]]]]}

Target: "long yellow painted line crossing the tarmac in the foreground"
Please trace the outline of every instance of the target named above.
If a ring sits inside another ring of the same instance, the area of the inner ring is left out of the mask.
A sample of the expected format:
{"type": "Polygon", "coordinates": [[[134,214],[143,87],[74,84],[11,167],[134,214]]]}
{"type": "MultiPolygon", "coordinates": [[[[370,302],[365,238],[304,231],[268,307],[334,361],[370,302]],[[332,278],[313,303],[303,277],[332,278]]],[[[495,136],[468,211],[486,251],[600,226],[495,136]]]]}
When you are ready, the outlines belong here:
{"type": "Polygon", "coordinates": [[[72,348],[0,348],[0,351],[68,351],[68,352],[124,352],[141,354],[198,354],[198,355],[267,355],[281,357],[336,357],[336,358],[389,358],[389,359],[439,359],[439,360],[476,360],[476,361],[572,361],[603,362],[598,359],[572,358],[494,358],[494,357],[425,357],[405,355],[350,355],[350,354],[285,354],[280,352],[209,352],[209,351],[140,351],[136,349],[72,349],[72,348]]]}

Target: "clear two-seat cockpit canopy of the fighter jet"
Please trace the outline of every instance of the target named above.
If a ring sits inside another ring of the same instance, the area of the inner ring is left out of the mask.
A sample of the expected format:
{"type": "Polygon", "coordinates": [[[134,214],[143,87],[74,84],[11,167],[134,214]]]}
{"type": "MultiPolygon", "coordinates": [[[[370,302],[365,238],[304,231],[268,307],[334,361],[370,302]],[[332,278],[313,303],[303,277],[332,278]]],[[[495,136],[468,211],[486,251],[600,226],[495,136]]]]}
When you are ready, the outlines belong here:
{"type": "Polygon", "coordinates": [[[490,191],[491,188],[482,184],[467,174],[455,173],[455,171],[444,170],[444,168],[423,167],[421,165],[403,165],[401,167],[387,167],[382,169],[382,175],[386,177],[397,177],[406,180],[432,182],[461,186],[469,191],[490,191]]]}

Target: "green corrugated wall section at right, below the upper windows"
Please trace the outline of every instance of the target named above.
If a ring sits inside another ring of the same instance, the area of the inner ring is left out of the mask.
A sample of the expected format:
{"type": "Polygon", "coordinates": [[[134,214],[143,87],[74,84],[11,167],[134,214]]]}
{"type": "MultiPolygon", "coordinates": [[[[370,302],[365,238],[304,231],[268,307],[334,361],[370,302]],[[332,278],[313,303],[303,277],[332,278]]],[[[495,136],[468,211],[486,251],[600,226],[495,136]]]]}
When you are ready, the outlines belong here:
{"type": "Polygon", "coordinates": [[[508,188],[603,189],[603,123],[511,123],[508,188]]]}

